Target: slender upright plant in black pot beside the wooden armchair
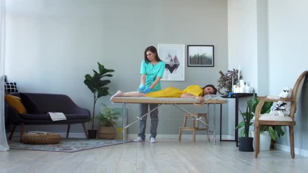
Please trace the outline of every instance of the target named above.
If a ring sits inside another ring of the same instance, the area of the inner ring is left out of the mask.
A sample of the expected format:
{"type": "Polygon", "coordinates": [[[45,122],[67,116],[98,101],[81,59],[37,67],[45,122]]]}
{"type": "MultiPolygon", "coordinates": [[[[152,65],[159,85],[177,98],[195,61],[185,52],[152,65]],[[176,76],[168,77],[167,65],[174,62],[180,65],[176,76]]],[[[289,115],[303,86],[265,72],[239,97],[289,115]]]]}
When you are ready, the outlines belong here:
{"type": "Polygon", "coordinates": [[[243,121],[236,127],[236,129],[242,128],[239,138],[239,151],[254,151],[253,150],[253,138],[249,137],[249,127],[253,124],[253,122],[250,122],[253,118],[253,106],[255,105],[255,93],[253,92],[253,97],[251,100],[247,100],[247,106],[246,106],[246,112],[241,112],[241,115],[243,116],[243,121]]]}

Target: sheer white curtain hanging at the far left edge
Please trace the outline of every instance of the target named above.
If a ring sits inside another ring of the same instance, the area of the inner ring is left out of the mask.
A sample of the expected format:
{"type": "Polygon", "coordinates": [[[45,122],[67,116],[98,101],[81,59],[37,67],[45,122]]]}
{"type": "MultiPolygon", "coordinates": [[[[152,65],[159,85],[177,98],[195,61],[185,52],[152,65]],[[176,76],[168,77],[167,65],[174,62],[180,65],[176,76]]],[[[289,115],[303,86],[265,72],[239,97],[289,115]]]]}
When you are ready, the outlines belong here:
{"type": "Polygon", "coordinates": [[[0,151],[9,149],[4,117],[5,0],[0,0],[0,151]]]}

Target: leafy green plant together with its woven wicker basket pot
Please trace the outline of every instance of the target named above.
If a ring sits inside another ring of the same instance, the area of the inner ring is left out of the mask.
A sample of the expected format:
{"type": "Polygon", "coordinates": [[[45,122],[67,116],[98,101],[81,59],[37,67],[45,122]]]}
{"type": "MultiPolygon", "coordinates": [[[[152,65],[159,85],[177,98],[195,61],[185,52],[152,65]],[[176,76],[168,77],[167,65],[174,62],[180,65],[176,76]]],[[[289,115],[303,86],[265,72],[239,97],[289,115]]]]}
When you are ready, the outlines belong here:
{"type": "Polygon", "coordinates": [[[100,122],[100,126],[97,131],[98,139],[114,139],[117,135],[114,125],[117,125],[117,119],[120,112],[113,112],[112,108],[102,104],[101,113],[97,115],[97,120],[100,122]]]}

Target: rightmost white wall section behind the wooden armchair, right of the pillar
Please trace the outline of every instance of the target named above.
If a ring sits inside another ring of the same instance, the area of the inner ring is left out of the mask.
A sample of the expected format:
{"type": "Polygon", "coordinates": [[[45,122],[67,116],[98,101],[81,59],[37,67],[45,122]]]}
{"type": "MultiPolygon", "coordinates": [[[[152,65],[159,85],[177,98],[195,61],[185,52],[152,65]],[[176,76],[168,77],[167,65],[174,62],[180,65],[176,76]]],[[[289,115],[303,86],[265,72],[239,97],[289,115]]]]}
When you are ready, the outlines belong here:
{"type": "MultiPolygon", "coordinates": [[[[293,87],[297,77],[308,69],[308,1],[268,1],[268,56],[269,88],[271,95],[277,95],[284,86],[293,87]]],[[[298,92],[295,115],[294,145],[308,149],[307,85],[298,92]],[[304,103],[305,102],[305,103],[304,103]]],[[[285,136],[277,143],[289,145],[288,128],[285,136]]]]}

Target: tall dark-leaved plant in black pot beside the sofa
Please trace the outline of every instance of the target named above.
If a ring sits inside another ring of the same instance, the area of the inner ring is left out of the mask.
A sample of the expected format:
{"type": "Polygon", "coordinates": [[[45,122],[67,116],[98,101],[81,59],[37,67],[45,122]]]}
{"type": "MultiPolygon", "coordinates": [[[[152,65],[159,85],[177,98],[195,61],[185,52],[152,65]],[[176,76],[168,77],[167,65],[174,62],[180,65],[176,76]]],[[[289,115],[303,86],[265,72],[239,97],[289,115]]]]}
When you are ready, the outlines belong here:
{"type": "Polygon", "coordinates": [[[109,72],[114,72],[114,70],[112,69],[106,69],[103,65],[101,65],[99,62],[97,62],[98,64],[98,69],[99,72],[94,71],[93,76],[91,76],[90,74],[86,74],[85,75],[85,80],[84,83],[88,86],[88,88],[91,90],[91,92],[93,93],[93,98],[94,98],[94,104],[93,104],[93,115],[91,118],[92,121],[92,128],[91,130],[88,130],[88,134],[89,134],[89,138],[90,139],[96,139],[96,130],[94,130],[94,115],[95,115],[95,104],[98,98],[102,97],[102,96],[107,96],[109,95],[108,92],[108,87],[106,87],[105,85],[107,85],[108,83],[110,83],[110,80],[102,80],[101,78],[103,77],[111,77],[113,76],[112,74],[106,74],[109,72]]]}

